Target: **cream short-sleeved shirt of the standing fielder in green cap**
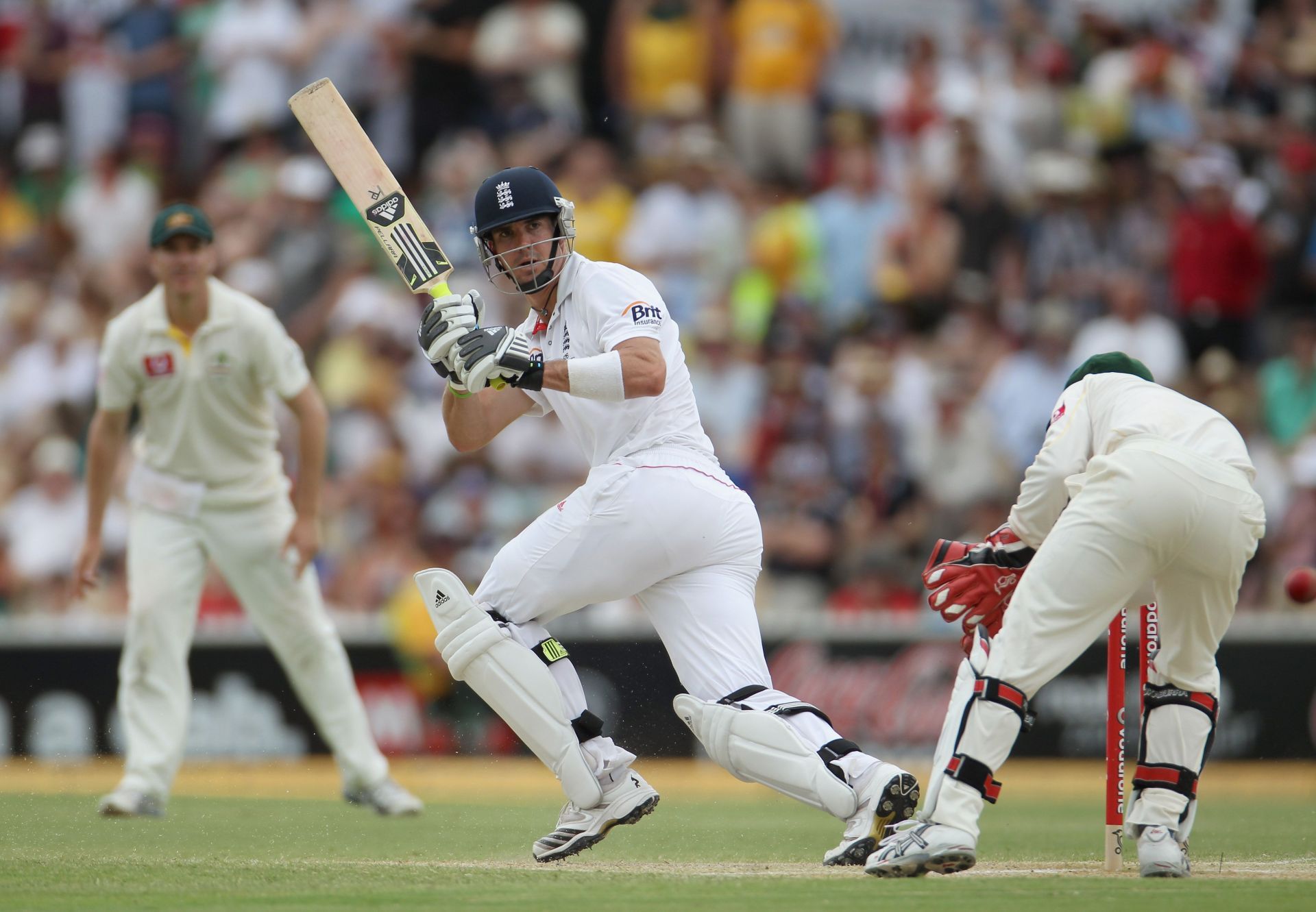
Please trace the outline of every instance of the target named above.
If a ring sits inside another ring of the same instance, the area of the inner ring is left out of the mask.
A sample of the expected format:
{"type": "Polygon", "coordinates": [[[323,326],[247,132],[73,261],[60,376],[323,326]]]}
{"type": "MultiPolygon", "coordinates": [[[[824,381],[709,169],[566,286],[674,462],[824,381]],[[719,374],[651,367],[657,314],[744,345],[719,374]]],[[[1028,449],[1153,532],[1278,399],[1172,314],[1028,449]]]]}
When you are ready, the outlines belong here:
{"type": "Polygon", "coordinates": [[[267,393],[291,399],[311,375],[270,308],[218,279],[208,286],[209,316],[191,340],[171,329],[161,286],[109,321],[97,405],[137,403],[137,458],[204,483],[207,507],[237,507],[287,491],[267,393]]]}

